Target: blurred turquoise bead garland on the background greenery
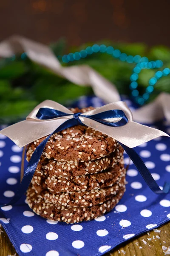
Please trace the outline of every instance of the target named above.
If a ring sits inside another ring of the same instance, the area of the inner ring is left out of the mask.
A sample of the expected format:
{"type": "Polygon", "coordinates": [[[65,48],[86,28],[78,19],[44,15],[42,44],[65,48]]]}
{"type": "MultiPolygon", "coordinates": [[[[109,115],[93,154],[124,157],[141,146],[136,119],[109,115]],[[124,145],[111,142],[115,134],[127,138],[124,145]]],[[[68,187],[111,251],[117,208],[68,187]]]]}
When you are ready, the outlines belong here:
{"type": "MultiPolygon", "coordinates": [[[[141,57],[140,55],[127,55],[126,53],[122,53],[119,49],[114,49],[112,46],[107,47],[104,44],[94,44],[92,47],[88,46],[86,49],[82,49],[79,52],[71,52],[63,56],[59,55],[58,58],[61,58],[64,63],[68,63],[70,61],[78,61],[81,58],[86,58],[88,55],[97,52],[107,53],[112,55],[114,58],[119,58],[120,61],[126,61],[129,64],[136,63],[136,67],[133,68],[133,73],[130,76],[130,90],[133,100],[139,105],[143,105],[149,99],[150,94],[154,90],[154,85],[156,82],[161,79],[162,76],[167,76],[170,74],[169,68],[164,68],[162,71],[157,71],[155,76],[149,80],[149,85],[147,86],[145,92],[142,94],[142,96],[139,96],[139,90],[137,89],[139,73],[142,69],[154,69],[162,67],[163,62],[161,60],[149,61],[147,57],[141,57]]],[[[21,58],[23,60],[27,58],[26,52],[21,54],[21,58]]],[[[14,59],[15,55],[11,58],[11,60],[14,59]]]]}

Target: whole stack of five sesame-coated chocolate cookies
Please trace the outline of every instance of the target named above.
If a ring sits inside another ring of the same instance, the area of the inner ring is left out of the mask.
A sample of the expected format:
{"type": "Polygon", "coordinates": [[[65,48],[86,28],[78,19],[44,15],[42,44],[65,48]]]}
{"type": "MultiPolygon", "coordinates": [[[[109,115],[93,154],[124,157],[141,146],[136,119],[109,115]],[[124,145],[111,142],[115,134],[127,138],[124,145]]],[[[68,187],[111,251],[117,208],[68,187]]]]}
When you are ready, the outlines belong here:
{"type": "MultiPolygon", "coordinates": [[[[71,111],[84,113],[91,109],[71,111]]],[[[28,145],[28,161],[44,139],[28,145]]],[[[28,188],[27,201],[44,218],[75,223],[111,211],[124,192],[123,148],[113,138],[77,125],[48,140],[28,188]]]]}

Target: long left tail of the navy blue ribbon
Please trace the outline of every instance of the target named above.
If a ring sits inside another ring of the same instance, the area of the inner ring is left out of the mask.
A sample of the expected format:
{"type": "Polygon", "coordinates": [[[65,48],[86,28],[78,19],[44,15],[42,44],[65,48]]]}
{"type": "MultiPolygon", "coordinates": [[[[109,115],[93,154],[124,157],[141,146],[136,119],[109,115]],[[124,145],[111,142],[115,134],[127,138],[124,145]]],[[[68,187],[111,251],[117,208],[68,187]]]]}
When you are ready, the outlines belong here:
{"type": "Polygon", "coordinates": [[[26,193],[26,190],[28,189],[29,184],[31,183],[31,180],[34,176],[34,172],[37,168],[38,162],[40,160],[40,157],[42,155],[42,151],[48,142],[48,139],[51,137],[52,134],[62,131],[66,128],[69,128],[71,126],[77,125],[77,120],[76,119],[68,119],[65,121],[62,125],[60,125],[54,132],[52,132],[45,140],[43,140],[40,145],[36,148],[34,153],[31,156],[31,159],[28,163],[28,166],[26,168],[26,171],[24,172],[23,179],[20,183],[19,188],[17,189],[17,192],[15,193],[14,197],[11,199],[11,201],[8,202],[8,204],[4,204],[0,202],[0,207],[8,206],[11,204],[17,203],[17,201],[22,198],[23,194],[26,193]]]}

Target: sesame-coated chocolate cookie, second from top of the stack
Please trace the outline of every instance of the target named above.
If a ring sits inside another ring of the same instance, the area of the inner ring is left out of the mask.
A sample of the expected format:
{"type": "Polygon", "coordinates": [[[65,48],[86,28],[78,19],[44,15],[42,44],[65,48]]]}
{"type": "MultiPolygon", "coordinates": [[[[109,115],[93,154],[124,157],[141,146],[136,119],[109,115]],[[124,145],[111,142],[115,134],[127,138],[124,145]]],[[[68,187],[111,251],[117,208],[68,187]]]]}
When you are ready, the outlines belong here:
{"type": "Polygon", "coordinates": [[[37,176],[50,175],[54,177],[71,177],[87,175],[113,167],[120,161],[123,155],[123,148],[120,146],[116,151],[108,156],[88,162],[73,162],[73,161],[57,161],[49,159],[38,163],[36,169],[37,176]]]}

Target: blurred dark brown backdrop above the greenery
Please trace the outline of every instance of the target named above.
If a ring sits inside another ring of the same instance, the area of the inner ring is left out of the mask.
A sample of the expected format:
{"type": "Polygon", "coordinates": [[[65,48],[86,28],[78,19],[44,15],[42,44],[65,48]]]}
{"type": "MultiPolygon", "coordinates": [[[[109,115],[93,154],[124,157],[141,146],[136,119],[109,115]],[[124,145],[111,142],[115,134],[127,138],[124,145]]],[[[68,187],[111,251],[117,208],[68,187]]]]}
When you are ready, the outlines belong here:
{"type": "Polygon", "coordinates": [[[65,37],[170,46],[168,0],[0,0],[0,41],[18,34],[45,44],[65,37]]]}

